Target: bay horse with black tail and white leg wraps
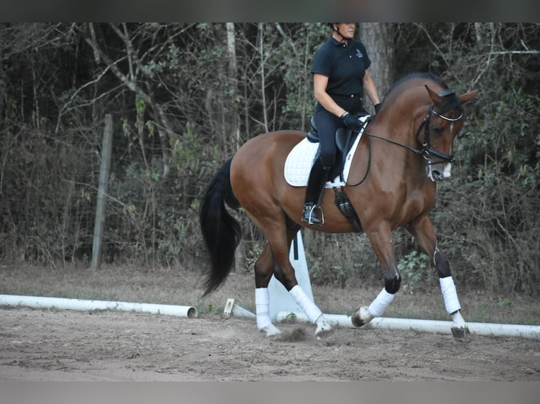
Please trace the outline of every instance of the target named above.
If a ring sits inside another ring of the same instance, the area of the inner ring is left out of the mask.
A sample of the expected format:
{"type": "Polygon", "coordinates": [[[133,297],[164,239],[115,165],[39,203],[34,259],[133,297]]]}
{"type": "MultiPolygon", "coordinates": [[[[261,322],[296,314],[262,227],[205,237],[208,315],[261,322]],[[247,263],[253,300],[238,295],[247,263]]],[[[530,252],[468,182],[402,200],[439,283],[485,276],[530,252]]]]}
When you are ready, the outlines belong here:
{"type": "Polygon", "coordinates": [[[202,199],[200,227],[209,254],[202,296],[219,289],[234,265],[242,229],[226,206],[242,208],[267,241],[254,264],[257,328],[267,337],[281,333],[269,317],[268,285],[274,274],[316,326],[316,338],[326,339],[334,331],[333,324],[297,283],[289,260],[290,244],[302,227],[326,233],[362,231],[384,278],[384,287],[372,303],[358,307],[350,317],[353,326],[363,327],[383,315],[400,289],[392,232],[403,227],[438,274],[453,336],[469,339],[450,265],[438,248],[429,210],[436,182],[451,174],[453,142],[465,120],[462,104],[477,92],[457,95],[431,73],[412,73],[395,82],[357,143],[343,187],[357,225],[334,203],[328,188],[319,203],[324,225],[314,227],[300,220],[305,187],[288,184],[283,171],[290,151],[306,133],[280,130],[247,140],[216,172],[202,199]]]}

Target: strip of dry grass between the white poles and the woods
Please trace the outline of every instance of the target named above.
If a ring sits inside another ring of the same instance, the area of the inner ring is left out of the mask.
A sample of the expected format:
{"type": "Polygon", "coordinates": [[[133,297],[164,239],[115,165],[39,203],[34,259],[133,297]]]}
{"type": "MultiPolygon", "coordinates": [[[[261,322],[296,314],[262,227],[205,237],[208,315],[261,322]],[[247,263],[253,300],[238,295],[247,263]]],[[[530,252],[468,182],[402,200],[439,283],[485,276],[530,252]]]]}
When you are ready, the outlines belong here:
{"type": "MultiPolygon", "coordinates": [[[[0,281],[0,294],[194,305],[199,315],[221,315],[227,298],[235,298],[235,303],[254,312],[252,272],[232,272],[221,289],[204,299],[200,273],[182,267],[104,265],[92,271],[82,266],[1,265],[0,281]]],[[[312,286],[314,301],[324,313],[346,315],[369,304],[380,289],[373,285],[312,286]]],[[[460,301],[470,322],[540,324],[540,302],[531,298],[468,291],[460,293],[460,301]]],[[[417,293],[401,290],[385,315],[449,320],[437,287],[417,293]]]]}

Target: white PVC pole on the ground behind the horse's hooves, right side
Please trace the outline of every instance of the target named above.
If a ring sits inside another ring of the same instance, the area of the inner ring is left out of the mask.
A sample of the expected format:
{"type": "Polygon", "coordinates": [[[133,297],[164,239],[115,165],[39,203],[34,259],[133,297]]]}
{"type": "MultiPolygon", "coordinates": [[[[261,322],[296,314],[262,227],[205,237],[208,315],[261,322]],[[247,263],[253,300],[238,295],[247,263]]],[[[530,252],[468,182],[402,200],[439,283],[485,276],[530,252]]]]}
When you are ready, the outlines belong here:
{"type": "MultiPolygon", "coordinates": [[[[329,322],[340,327],[355,328],[350,321],[350,315],[325,314],[329,322]]],[[[308,322],[304,313],[283,311],[278,314],[278,322],[284,320],[297,320],[308,322]]],[[[405,318],[375,317],[367,327],[380,329],[413,330],[419,332],[438,332],[451,334],[451,321],[414,320],[405,318]]],[[[483,322],[467,322],[469,331],[473,334],[485,336],[520,336],[529,339],[540,339],[540,326],[521,324],[490,324],[483,322]]]]}

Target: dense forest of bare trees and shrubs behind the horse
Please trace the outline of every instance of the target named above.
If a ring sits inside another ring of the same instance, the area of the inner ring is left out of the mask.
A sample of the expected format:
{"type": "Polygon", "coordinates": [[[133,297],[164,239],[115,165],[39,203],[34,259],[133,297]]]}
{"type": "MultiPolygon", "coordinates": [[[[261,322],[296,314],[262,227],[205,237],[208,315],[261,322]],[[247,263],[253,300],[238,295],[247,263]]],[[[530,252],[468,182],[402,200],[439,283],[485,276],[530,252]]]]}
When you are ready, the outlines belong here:
{"type": "MultiPolygon", "coordinates": [[[[439,247],[460,289],[540,296],[540,24],[358,32],[381,96],[417,71],[481,90],[465,108],[453,176],[438,184],[439,247]]],[[[90,265],[112,114],[104,263],[200,271],[205,187],[247,139],[309,129],[309,70],[329,34],[324,23],[0,24],[1,262],[90,265]]],[[[264,241],[239,217],[237,270],[249,271],[264,241]]],[[[363,234],[302,236],[312,282],[380,284],[363,234]]],[[[394,239],[405,289],[436,282],[411,237],[394,239]]]]}

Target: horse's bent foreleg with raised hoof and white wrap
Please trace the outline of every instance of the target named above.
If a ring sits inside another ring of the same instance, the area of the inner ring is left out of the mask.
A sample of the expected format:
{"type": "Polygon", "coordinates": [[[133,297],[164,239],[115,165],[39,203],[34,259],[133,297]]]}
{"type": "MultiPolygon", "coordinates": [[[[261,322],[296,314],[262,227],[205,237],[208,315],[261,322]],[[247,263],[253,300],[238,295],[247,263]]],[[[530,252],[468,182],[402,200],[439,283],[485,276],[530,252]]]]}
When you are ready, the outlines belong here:
{"type": "Polygon", "coordinates": [[[362,327],[371,322],[374,317],[381,317],[384,310],[392,303],[401,284],[398,266],[395,263],[390,229],[384,226],[378,232],[370,232],[368,236],[373,250],[384,268],[384,288],[369,306],[362,306],[352,314],[351,321],[355,327],[362,327]]]}

